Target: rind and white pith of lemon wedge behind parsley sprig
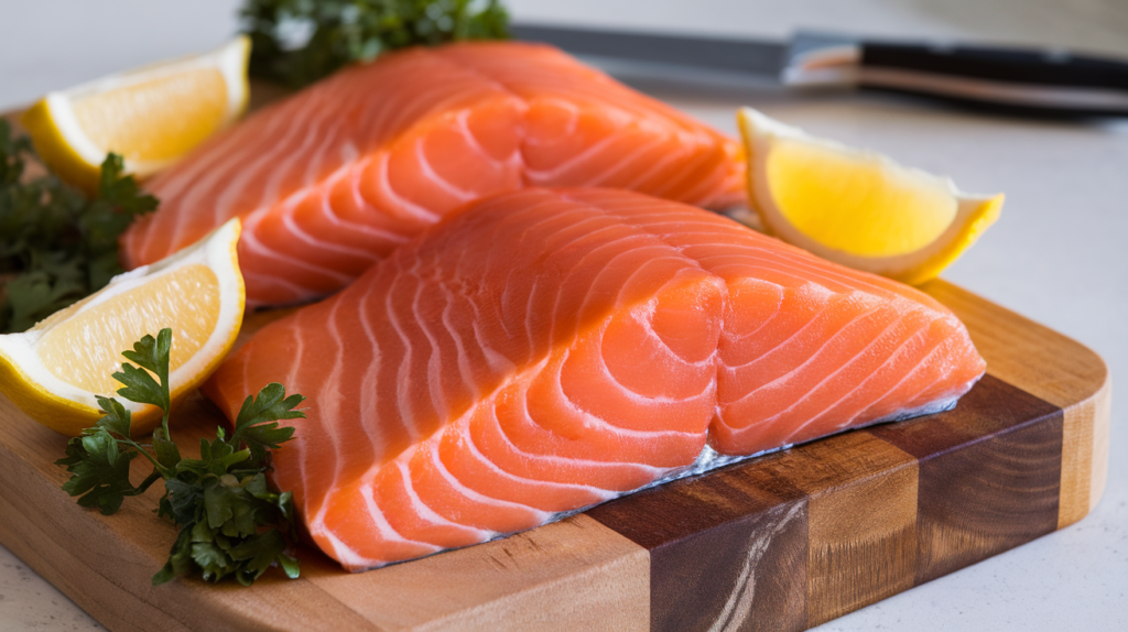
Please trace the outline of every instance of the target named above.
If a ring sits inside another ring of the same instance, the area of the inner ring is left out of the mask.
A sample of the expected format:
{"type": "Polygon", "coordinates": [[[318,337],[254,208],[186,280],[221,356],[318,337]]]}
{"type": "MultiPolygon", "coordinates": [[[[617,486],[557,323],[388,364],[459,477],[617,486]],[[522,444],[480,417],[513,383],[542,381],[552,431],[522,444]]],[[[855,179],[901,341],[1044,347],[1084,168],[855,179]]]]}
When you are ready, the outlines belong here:
{"type": "MultiPolygon", "coordinates": [[[[169,383],[173,384],[170,395],[174,401],[179,400],[219,366],[224,351],[235,344],[239,335],[246,303],[237,250],[240,231],[239,220],[230,220],[196,246],[151,266],[142,266],[114,277],[98,294],[68,308],[65,315],[54,315],[21,333],[0,336],[0,390],[41,424],[65,435],[77,436],[82,428],[91,426],[102,416],[95,394],[51,373],[35,351],[35,344],[55,324],[76,318],[113,296],[156,281],[183,266],[203,264],[215,272],[219,279],[220,309],[217,327],[208,340],[187,362],[169,373],[169,383]]],[[[175,330],[173,344],[176,344],[175,330]]],[[[114,399],[133,413],[133,428],[138,434],[151,430],[160,419],[156,407],[139,404],[116,395],[114,399]]]]}

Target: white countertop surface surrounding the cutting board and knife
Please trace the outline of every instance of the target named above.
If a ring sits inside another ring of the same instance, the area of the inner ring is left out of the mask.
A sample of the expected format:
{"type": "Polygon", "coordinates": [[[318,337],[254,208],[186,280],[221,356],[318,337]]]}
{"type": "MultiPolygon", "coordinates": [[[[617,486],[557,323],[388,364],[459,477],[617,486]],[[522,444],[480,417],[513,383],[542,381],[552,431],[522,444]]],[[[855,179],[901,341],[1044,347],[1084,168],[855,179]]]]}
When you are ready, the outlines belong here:
{"type": "MultiPolygon", "coordinates": [[[[236,0],[0,0],[0,109],[222,43],[236,0]]],[[[796,27],[1048,44],[1128,56],[1125,0],[509,0],[519,19],[783,37],[796,27]]],[[[735,133],[752,105],[819,135],[1007,194],[945,278],[1074,337],[1128,375],[1128,121],[1001,118],[918,101],[637,87],[735,133]]],[[[1119,394],[1119,393],[1118,393],[1119,394]]],[[[1128,434],[1113,395],[1109,486],[1081,523],[820,630],[1128,630],[1128,434]]],[[[0,519],[5,519],[0,516],[0,519]]],[[[100,626],[0,548],[0,632],[100,626]]]]}

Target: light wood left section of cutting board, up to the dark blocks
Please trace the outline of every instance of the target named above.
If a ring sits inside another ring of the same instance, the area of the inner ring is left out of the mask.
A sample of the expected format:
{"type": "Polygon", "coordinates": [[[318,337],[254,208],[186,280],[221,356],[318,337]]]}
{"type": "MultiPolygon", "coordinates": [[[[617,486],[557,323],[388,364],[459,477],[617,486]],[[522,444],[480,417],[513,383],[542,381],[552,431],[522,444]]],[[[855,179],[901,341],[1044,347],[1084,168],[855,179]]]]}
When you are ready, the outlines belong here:
{"type": "MultiPolygon", "coordinates": [[[[182,407],[177,443],[214,433],[210,404],[194,398],[182,407]]],[[[499,621],[554,630],[563,620],[641,630],[649,621],[646,551],[582,515],[362,575],[307,549],[300,579],[267,573],[253,598],[200,581],[155,588],[149,578],[176,535],[153,515],[160,493],[131,498],[109,517],[82,510],[59,490],[67,473],[51,464],[65,438],[6,398],[0,419],[15,421],[0,425],[0,542],[111,630],[496,630],[499,621]]]]}

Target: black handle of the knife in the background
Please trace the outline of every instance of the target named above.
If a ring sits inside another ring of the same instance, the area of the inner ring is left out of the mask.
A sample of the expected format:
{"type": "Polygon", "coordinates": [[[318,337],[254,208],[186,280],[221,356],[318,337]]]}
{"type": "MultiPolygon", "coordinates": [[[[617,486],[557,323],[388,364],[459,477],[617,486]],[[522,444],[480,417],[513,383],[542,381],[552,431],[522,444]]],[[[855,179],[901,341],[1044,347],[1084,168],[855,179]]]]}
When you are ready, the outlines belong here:
{"type": "Polygon", "coordinates": [[[863,43],[858,83],[1055,114],[1128,114],[1128,63],[1065,52],[863,43]]]}

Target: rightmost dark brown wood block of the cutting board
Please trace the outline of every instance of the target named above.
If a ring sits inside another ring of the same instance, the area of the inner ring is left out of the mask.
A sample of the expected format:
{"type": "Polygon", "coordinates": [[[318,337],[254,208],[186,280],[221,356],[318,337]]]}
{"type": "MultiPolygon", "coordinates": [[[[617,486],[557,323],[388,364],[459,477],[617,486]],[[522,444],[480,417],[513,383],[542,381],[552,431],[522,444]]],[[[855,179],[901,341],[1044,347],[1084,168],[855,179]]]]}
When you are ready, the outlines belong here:
{"type": "Polygon", "coordinates": [[[954,410],[869,431],[919,460],[916,584],[1057,529],[1056,406],[986,375],[954,410]]]}

